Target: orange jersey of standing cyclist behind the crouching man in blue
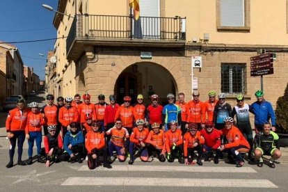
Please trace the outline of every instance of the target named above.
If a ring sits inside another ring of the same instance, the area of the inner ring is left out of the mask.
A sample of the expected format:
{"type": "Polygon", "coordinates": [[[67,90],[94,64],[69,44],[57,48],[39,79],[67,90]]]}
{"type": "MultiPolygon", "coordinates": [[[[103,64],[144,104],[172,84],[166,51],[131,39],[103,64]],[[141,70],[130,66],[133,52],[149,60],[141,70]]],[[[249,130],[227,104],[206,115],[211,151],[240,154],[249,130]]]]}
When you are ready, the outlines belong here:
{"type": "Polygon", "coordinates": [[[63,127],[67,127],[71,122],[78,122],[78,112],[75,106],[67,108],[61,107],[59,111],[59,122],[63,127]]]}

